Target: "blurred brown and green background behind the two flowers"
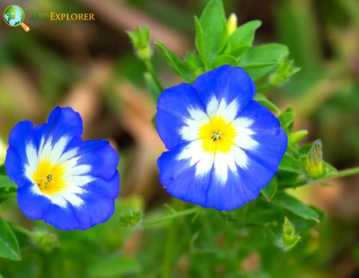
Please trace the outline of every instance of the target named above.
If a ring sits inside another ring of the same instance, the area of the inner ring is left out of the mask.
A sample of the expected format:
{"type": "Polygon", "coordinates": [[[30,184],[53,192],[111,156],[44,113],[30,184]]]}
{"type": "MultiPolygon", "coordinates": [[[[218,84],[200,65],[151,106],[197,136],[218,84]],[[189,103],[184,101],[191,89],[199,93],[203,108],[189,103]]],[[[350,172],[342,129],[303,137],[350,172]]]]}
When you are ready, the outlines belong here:
{"type": "MultiPolygon", "coordinates": [[[[359,277],[358,176],[331,180],[332,187],[312,184],[295,190],[327,217],[310,231],[310,239],[286,254],[272,247],[259,256],[256,249],[261,243],[250,238],[248,245],[237,248],[240,252],[229,254],[231,246],[222,245],[227,227],[216,225],[215,214],[210,227],[197,224],[197,229],[211,230],[201,244],[194,248],[196,230],[184,229],[173,252],[163,246],[166,229],[118,226],[118,216],[127,210],[155,214],[169,201],[157,180],[155,161],[164,146],[151,125],[155,104],[144,84],[145,68],[133,54],[125,31],[150,25],[153,40],[184,55],[194,48],[193,15],[199,15],[206,3],[0,1],[1,9],[17,4],[24,9],[37,7],[39,12],[94,13],[96,18],[32,21],[27,14],[29,33],[0,24],[1,138],[6,142],[19,120],[39,124],[55,105],[72,106],[83,117],[86,139],[109,139],[118,150],[122,179],[115,216],[86,232],[55,231],[26,219],[15,200],[1,203],[0,215],[5,219],[58,236],[56,247],[46,251],[53,245],[49,238],[36,242],[17,231],[23,258],[20,262],[0,259],[4,277],[159,277],[166,256],[173,256],[171,277],[359,277]]],[[[288,45],[295,65],[302,67],[290,83],[263,93],[280,108],[292,105],[297,115],[294,130],[308,129],[308,140],[321,138],[326,161],[337,169],[358,165],[359,2],[225,0],[224,5],[227,14],[237,14],[238,24],[261,20],[255,42],[288,45]]],[[[158,51],[153,60],[166,87],[182,82],[158,51]]],[[[186,221],[191,219],[185,219],[183,227],[186,221]]]]}

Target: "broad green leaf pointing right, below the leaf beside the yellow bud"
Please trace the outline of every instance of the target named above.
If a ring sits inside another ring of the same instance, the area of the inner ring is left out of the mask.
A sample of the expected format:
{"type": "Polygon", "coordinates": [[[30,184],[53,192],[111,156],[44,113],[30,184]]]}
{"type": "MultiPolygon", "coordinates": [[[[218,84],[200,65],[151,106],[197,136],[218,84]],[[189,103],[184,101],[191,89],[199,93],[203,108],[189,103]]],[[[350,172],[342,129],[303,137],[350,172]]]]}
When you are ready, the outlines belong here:
{"type": "Polygon", "coordinates": [[[289,54],[288,47],[282,44],[269,43],[248,49],[240,61],[240,66],[247,70],[256,81],[269,73],[289,54]]]}

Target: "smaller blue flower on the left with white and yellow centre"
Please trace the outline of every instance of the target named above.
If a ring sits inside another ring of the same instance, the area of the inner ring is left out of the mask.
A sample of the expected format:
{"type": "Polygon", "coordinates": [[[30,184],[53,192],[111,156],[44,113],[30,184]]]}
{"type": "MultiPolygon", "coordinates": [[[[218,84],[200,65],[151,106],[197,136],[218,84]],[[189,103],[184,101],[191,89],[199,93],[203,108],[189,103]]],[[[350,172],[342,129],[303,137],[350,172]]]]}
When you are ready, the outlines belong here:
{"type": "Polygon", "coordinates": [[[113,214],[118,155],[106,140],[83,141],[82,132],[70,107],[56,107],[46,124],[22,121],[11,130],[5,168],[27,217],[85,230],[113,214]]]}

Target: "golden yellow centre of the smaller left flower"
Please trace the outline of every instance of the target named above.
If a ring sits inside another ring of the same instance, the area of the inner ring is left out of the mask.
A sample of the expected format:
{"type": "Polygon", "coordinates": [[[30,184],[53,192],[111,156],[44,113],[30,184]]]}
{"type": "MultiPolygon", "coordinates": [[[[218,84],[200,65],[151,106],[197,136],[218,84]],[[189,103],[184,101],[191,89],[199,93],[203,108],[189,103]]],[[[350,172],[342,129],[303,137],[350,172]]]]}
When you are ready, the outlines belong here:
{"type": "Polygon", "coordinates": [[[38,163],[32,178],[42,193],[52,195],[65,188],[64,173],[61,164],[52,165],[49,160],[43,160],[38,163]]]}

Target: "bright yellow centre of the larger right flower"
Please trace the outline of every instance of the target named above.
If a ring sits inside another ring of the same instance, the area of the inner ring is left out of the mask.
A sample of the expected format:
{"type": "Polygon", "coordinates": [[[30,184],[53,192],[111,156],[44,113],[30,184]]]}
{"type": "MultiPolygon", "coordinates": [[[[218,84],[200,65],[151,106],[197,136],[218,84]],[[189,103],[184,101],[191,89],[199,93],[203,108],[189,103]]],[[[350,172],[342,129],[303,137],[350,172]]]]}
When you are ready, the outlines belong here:
{"type": "Polygon", "coordinates": [[[232,123],[226,123],[222,117],[214,117],[200,127],[199,136],[206,152],[228,153],[237,135],[232,123]]]}

